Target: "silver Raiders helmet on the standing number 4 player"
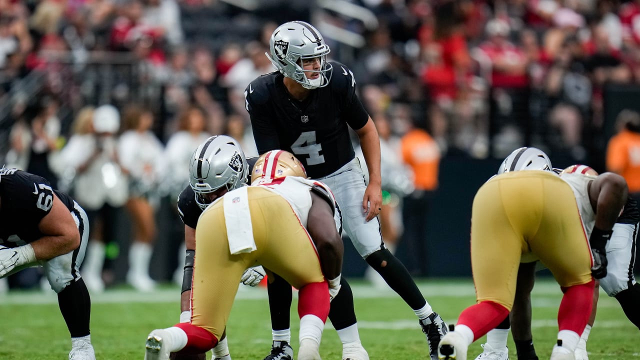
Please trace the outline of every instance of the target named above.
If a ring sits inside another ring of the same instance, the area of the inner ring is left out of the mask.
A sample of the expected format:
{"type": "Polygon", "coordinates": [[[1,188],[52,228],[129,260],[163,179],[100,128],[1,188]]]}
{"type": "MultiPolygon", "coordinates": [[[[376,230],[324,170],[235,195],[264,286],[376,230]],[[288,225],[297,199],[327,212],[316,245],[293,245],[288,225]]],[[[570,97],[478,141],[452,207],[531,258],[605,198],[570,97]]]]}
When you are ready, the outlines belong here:
{"type": "Polygon", "coordinates": [[[316,28],[303,21],[290,21],[278,26],[269,40],[271,54],[264,53],[273,66],[287,78],[294,79],[308,89],[329,85],[332,65],[326,61],[330,53],[329,46],[316,28]],[[319,73],[316,79],[308,79],[302,68],[305,59],[320,58],[319,70],[306,70],[319,73]]]}

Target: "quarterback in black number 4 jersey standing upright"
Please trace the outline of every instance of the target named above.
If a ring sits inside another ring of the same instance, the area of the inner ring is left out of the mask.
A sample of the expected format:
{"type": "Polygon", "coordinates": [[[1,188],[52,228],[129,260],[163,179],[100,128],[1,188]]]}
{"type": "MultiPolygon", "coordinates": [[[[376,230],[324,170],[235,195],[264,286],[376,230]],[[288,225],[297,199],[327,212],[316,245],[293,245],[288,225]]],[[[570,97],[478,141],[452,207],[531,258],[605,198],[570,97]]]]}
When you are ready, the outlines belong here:
{"type": "MultiPolygon", "coordinates": [[[[326,60],[330,49],[319,31],[307,22],[278,26],[269,42],[266,56],[277,70],[253,80],[244,92],[258,152],[292,152],[308,176],[333,190],[344,213],[344,229],[355,249],[413,309],[435,359],[446,325],[382,241],[377,218],[382,201],[380,139],[356,95],[353,73],[346,65],[326,60]],[[349,127],[360,139],[369,184],[365,184],[355,158],[349,127]]],[[[275,281],[269,283],[269,293],[278,296],[269,297],[269,303],[274,302],[270,305],[274,340],[291,337],[286,315],[289,309],[284,307],[291,304],[291,287],[275,281]],[[274,307],[280,307],[283,318],[273,318],[274,307]]],[[[344,344],[342,358],[365,358],[348,347],[349,343],[360,343],[355,317],[342,318],[340,323],[333,323],[344,344]]],[[[277,351],[274,347],[272,354],[277,351]]]]}

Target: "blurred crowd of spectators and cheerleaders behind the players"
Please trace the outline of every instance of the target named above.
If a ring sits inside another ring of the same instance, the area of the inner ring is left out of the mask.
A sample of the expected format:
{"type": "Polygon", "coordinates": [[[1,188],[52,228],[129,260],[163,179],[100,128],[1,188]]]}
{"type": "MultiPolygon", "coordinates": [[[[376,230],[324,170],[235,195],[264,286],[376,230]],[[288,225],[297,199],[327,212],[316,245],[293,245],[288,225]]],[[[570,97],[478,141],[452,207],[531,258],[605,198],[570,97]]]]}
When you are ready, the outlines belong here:
{"type": "Polygon", "coordinates": [[[94,288],[113,211],[131,218],[127,281],[148,290],[156,211],[188,184],[193,149],[226,134],[257,156],[243,92],[273,71],[264,53],[286,20],[314,24],[355,74],[383,174],[397,174],[383,177],[388,243],[424,233],[401,208],[428,216],[441,159],[532,145],[591,161],[608,140],[608,86],[640,82],[640,0],[325,3],[0,0],[0,161],[90,212],[94,288]]]}

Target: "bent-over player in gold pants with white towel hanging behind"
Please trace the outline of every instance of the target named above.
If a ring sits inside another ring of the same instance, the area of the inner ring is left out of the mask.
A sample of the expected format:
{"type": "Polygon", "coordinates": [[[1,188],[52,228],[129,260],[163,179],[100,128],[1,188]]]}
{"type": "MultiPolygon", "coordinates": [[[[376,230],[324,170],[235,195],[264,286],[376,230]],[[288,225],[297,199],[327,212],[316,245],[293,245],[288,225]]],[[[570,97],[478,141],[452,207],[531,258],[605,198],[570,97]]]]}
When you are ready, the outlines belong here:
{"type": "MultiPolygon", "coordinates": [[[[239,161],[227,165],[241,170],[246,161],[243,163],[240,152],[236,155],[234,160],[239,161]]],[[[320,359],[329,302],[340,290],[344,249],[331,191],[317,181],[289,176],[291,172],[282,170],[291,169],[289,164],[279,166],[287,155],[283,151],[263,155],[264,168],[269,171],[257,186],[231,191],[223,186],[204,195],[204,201],[211,204],[196,227],[198,260],[193,266],[191,322],[152,331],[145,360],[166,360],[170,352],[198,353],[214,347],[225,329],[244,270],[260,264],[300,290],[298,359],[320,359]]],[[[191,164],[192,177],[203,188],[211,165],[207,158],[191,164]]]]}

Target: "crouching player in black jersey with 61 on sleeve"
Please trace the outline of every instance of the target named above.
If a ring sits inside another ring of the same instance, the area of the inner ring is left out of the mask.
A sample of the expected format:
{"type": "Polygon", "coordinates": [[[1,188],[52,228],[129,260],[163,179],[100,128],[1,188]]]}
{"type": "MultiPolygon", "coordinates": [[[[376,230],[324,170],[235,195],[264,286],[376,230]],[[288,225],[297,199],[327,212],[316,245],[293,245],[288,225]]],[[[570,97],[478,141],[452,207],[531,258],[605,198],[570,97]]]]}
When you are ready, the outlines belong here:
{"type": "Polygon", "coordinates": [[[84,210],[43,177],[0,169],[0,277],[44,268],[71,334],[70,360],[95,360],[91,300],[79,268],[89,234],[84,210]]]}

